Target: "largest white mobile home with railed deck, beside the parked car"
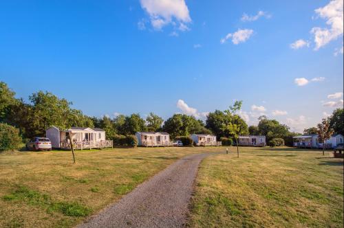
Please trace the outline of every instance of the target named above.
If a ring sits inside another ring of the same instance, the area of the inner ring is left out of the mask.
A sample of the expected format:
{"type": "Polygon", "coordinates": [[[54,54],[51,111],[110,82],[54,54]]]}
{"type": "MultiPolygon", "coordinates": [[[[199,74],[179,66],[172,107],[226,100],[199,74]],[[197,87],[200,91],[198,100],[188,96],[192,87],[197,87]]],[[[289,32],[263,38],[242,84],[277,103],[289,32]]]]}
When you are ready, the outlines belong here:
{"type": "Polygon", "coordinates": [[[106,140],[105,131],[100,128],[72,127],[61,130],[51,126],[45,130],[45,133],[52,142],[53,148],[70,148],[69,134],[75,149],[112,147],[112,141],[106,140]]]}

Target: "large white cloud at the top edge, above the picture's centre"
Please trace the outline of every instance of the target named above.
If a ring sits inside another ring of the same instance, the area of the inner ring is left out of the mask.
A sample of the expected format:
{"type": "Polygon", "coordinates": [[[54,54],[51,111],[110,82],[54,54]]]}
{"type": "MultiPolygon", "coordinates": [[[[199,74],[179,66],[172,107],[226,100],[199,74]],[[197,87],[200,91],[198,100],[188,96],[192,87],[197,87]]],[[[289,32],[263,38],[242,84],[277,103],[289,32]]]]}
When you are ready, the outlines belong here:
{"type": "Polygon", "coordinates": [[[191,22],[191,17],[184,0],[140,0],[140,3],[155,30],[162,30],[169,23],[178,23],[182,31],[189,30],[186,23],[191,22]]]}

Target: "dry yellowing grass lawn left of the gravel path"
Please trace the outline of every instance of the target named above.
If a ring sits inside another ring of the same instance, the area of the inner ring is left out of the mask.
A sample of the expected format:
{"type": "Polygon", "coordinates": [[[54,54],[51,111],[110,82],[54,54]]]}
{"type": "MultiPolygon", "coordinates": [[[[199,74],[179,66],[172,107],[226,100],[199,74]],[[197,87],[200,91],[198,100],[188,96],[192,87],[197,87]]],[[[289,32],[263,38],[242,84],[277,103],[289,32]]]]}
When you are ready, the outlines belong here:
{"type": "Polygon", "coordinates": [[[72,227],[185,155],[224,148],[0,153],[0,227],[72,227]]]}

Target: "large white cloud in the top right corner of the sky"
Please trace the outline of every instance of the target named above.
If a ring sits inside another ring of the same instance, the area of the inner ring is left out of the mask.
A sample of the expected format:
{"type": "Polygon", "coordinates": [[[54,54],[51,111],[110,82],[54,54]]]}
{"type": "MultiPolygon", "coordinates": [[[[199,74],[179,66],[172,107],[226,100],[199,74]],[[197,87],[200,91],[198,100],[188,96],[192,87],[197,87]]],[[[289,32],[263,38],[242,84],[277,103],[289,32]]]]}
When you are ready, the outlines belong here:
{"type": "Polygon", "coordinates": [[[329,27],[313,27],[315,50],[327,45],[343,35],[343,0],[330,1],[323,8],[314,10],[322,19],[326,20],[329,27]]]}

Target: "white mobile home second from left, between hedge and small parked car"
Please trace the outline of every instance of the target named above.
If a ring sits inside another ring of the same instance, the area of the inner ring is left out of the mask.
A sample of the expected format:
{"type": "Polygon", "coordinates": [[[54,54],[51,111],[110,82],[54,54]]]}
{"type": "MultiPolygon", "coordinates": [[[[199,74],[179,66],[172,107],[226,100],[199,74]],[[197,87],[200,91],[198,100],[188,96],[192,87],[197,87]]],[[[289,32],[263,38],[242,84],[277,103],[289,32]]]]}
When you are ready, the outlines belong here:
{"type": "Polygon", "coordinates": [[[169,133],[138,132],[138,146],[172,146],[169,133]]]}

